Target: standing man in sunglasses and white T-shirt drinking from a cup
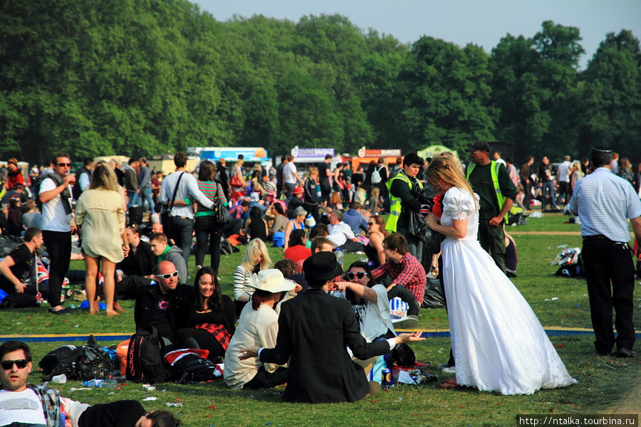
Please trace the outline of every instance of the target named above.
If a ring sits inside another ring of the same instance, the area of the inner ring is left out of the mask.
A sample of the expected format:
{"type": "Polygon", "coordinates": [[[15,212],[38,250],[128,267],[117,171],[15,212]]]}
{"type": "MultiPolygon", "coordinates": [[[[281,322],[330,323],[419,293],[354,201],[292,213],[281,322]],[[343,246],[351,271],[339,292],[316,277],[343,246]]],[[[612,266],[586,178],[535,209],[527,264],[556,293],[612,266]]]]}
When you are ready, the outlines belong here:
{"type": "Polygon", "coordinates": [[[75,223],[71,213],[71,187],[75,176],[69,174],[71,160],[66,153],[53,157],[53,174],[45,176],[38,189],[42,203],[42,237],[49,255],[49,312],[66,315],[61,305],[62,283],[69,270],[71,235],[75,223]]]}

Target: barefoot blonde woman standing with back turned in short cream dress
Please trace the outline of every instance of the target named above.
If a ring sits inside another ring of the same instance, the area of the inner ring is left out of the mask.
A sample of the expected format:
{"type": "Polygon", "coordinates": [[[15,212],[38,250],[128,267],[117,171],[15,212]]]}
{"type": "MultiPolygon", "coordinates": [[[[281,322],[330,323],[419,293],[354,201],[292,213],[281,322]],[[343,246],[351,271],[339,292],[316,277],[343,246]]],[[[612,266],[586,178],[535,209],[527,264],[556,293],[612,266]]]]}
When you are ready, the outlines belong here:
{"type": "Polygon", "coordinates": [[[120,193],[113,169],[98,163],[93,169],[89,188],[83,191],[75,205],[75,223],[82,230],[85,255],[85,290],[89,314],[97,313],[95,283],[101,265],[105,278],[107,315],[120,314],[122,307],[113,301],[115,292],[115,265],[129,253],[125,232],[125,199],[120,193]]]}

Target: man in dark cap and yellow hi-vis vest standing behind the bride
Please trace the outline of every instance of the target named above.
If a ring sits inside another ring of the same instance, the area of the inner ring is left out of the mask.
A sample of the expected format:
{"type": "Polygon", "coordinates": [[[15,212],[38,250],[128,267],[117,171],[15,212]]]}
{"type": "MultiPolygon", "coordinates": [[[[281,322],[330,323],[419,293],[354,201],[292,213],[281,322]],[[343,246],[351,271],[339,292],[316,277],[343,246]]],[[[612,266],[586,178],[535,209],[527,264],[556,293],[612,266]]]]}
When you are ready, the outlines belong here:
{"type": "Polygon", "coordinates": [[[505,231],[503,224],[516,199],[516,187],[504,165],[490,161],[489,144],[476,141],[467,149],[472,164],[467,180],[479,195],[479,243],[505,273],[505,231]]]}

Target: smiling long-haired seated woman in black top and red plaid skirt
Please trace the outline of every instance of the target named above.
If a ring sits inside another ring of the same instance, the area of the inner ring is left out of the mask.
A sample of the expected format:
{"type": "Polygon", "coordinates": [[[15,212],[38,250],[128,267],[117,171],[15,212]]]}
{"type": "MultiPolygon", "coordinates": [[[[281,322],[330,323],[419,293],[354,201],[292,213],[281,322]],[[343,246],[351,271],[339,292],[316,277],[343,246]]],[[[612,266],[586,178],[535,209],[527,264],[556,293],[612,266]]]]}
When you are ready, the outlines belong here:
{"type": "Polygon", "coordinates": [[[207,358],[212,361],[224,358],[235,331],[236,305],[228,295],[223,295],[212,268],[197,271],[194,295],[184,301],[184,306],[172,307],[179,345],[209,350],[207,358]]]}

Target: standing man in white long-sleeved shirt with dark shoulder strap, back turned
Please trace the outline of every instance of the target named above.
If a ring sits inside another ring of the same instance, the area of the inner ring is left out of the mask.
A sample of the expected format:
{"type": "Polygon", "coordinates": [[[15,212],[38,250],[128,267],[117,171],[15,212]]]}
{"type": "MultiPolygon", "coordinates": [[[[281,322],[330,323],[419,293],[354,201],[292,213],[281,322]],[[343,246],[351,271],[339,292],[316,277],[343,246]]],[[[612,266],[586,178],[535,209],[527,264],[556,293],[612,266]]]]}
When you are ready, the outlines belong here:
{"type": "MultiPolygon", "coordinates": [[[[198,183],[194,176],[186,172],[187,154],[184,152],[174,154],[174,164],[176,165],[176,172],[167,175],[162,180],[158,197],[160,203],[163,205],[169,204],[177,186],[174,202],[183,201],[187,196],[192,196],[192,199],[199,204],[211,209],[214,206],[214,201],[207,199],[207,196],[202,194],[202,191],[198,189],[198,183]]],[[[174,239],[176,246],[182,249],[185,265],[189,265],[189,254],[192,253],[192,234],[194,233],[194,208],[191,203],[182,203],[180,206],[168,206],[167,209],[170,210],[172,224],[171,226],[163,224],[165,235],[174,239]]]]}

